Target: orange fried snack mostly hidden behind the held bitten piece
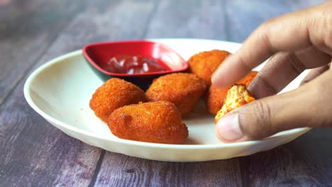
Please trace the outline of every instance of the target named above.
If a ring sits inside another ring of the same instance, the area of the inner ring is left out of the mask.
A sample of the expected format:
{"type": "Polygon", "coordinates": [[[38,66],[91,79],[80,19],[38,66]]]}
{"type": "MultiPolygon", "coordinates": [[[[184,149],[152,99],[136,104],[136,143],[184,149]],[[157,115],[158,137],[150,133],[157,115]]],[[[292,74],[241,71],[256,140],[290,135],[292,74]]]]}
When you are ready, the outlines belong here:
{"type": "MultiPolygon", "coordinates": [[[[236,84],[244,84],[246,87],[249,86],[250,82],[253,81],[258,72],[250,72],[243,79],[237,81],[236,84]]],[[[211,85],[209,91],[206,91],[205,104],[209,110],[209,113],[216,115],[216,113],[223,107],[223,101],[226,99],[228,88],[218,88],[211,85]]]]}

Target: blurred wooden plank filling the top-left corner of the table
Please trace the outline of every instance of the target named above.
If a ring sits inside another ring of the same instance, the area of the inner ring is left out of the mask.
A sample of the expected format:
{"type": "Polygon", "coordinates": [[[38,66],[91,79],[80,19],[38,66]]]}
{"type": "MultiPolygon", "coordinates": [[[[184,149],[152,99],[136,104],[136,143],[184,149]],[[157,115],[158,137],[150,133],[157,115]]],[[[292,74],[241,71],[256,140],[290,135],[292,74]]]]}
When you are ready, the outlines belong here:
{"type": "Polygon", "coordinates": [[[8,1],[0,4],[0,104],[84,2],[8,1]]]}

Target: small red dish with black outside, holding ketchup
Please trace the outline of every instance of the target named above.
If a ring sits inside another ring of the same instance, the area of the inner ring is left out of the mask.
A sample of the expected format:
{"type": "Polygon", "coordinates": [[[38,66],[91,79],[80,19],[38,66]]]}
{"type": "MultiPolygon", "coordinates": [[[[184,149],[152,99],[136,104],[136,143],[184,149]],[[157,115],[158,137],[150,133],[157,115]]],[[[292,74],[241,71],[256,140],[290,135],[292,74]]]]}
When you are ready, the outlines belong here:
{"type": "Polygon", "coordinates": [[[153,79],[184,72],[188,63],[167,45],[148,40],[99,42],[84,45],[83,55],[104,81],[112,77],[148,89],[153,79]]]}

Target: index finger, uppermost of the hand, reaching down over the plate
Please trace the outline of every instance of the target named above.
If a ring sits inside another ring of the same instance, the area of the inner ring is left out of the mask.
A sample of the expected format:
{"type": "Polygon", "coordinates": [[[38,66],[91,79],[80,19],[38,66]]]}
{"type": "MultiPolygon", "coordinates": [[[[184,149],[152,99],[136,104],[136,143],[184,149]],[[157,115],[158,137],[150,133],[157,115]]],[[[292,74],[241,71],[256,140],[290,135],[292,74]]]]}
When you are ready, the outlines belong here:
{"type": "MultiPolygon", "coordinates": [[[[324,11],[325,7],[331,7],[331,2],[263,23],[245,40],[238,52],[226,58],[216,69],[211,79],[212,84],[219,87],[229,86],[276,52],[295,51],[313,44],[324,44],[321,40],[324,36],[314,33],[326,29],[323,24],[317,24],[324,22],[322,19],[326,16],[316,16],[317,12],[324,11]]],[[[328,38],[328,32],[325,35],[328,38]]]]}

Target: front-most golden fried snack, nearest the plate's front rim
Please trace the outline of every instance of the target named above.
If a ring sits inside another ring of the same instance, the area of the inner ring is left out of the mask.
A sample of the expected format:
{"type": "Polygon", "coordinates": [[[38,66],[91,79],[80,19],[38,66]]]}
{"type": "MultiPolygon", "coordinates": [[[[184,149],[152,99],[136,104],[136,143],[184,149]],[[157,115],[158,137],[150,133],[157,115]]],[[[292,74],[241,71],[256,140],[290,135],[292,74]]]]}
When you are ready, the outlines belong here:
{"type": "Polygon", "coordinates": [[[182,144],[188,137],[179,109],[168,101],[118,108],[109,116],[109,129],[116,137],[142,142],[182,144]]]}

